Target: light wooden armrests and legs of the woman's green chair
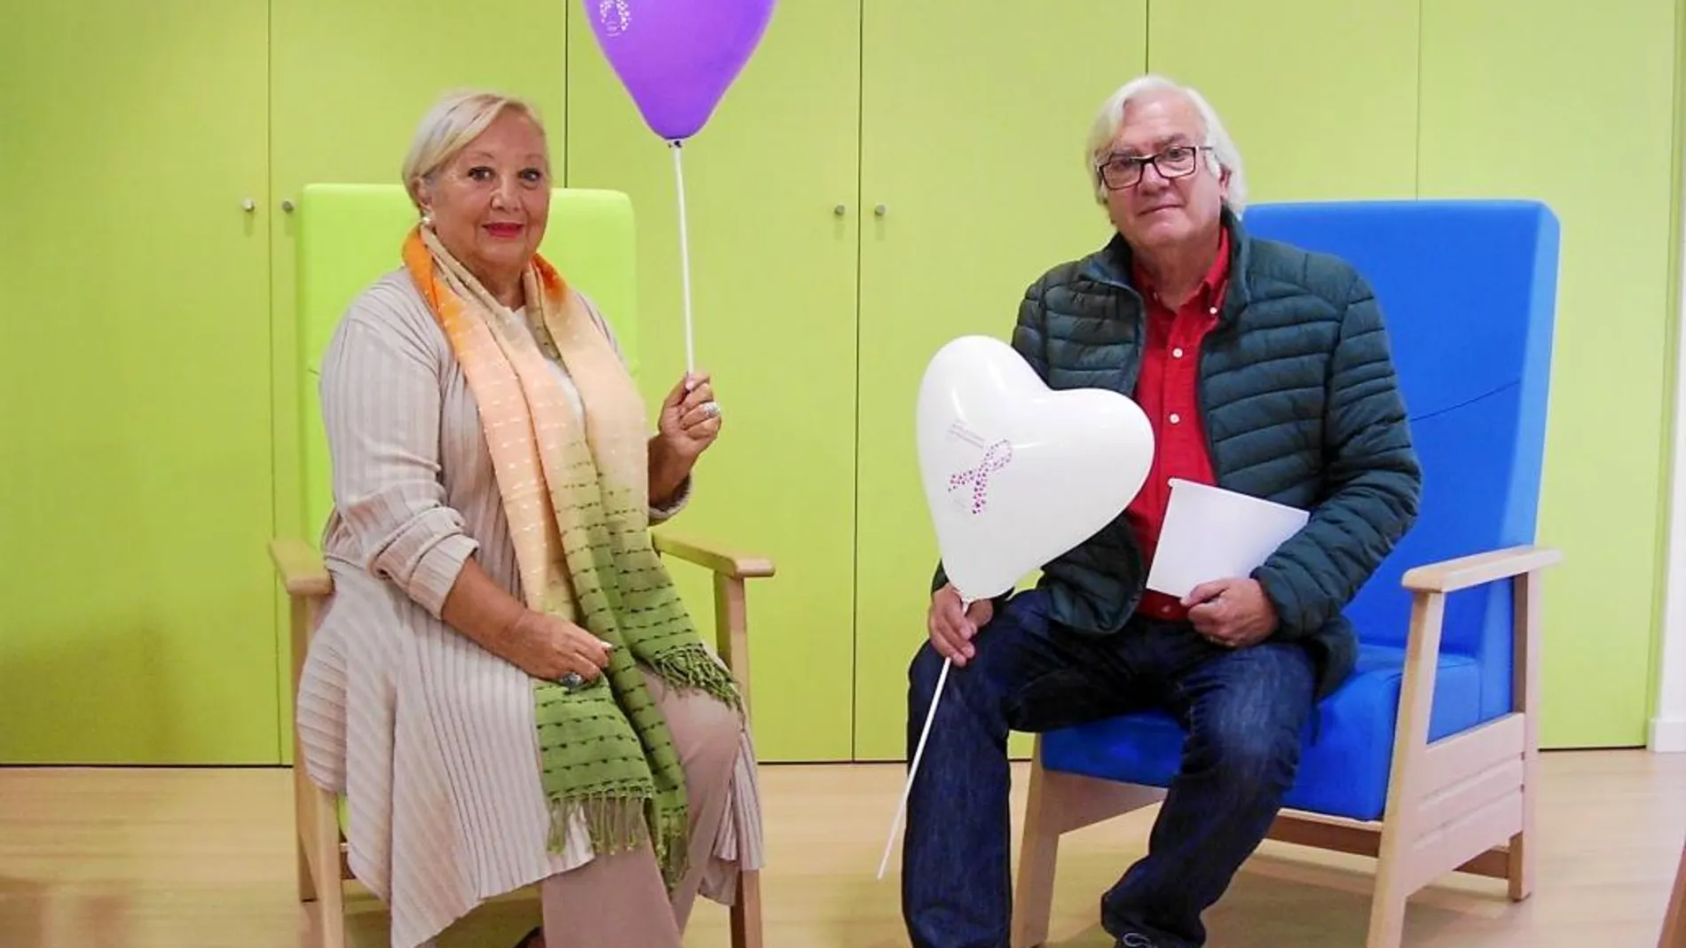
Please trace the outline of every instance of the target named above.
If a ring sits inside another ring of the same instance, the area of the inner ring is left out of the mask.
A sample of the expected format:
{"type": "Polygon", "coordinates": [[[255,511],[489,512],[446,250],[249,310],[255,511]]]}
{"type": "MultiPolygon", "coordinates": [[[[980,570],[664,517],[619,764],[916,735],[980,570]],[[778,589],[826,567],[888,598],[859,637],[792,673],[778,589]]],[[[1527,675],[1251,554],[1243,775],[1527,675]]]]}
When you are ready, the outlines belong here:
{"type": "MultiPolygon", "coordinates": [[[[715,648],[732,668],[749,709],[749,620],[745,611],[745,581],[774,574],[772,561],[733,556],[718,547],[678,539],[656,532],[656,551],[663,556],[693,562],[715,576],[715,648]]],[[[298,697],[298,675],[310,650],[322,603],[334,593],[334,581],[322,564],[320,554],[302,541],[275,541],[270,557],[282,584],[292,599],[292,650],[293,699],[298,697]]],[[[319,948],[344,948],[344,887],[352,879],[346,864],[346,837],[339,825],[339,800],[317,786],[307,775],[298,746],[298,729],[293,727],[293,808],[298,825],[298,901],[315,906],[315,933],[319,948]]],[[[760,929],[760,874],[742,871],[737,884],[737,901],[732,904],[733,948],[762,948],[760,929]]]]}

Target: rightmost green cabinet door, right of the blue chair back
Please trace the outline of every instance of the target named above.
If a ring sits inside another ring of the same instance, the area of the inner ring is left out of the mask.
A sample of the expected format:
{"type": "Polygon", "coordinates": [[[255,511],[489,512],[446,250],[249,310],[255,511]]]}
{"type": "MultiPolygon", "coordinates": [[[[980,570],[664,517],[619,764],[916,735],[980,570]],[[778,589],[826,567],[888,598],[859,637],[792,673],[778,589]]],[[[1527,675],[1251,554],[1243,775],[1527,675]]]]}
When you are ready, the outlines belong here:
{"type": "Polygon", "coordinates": [[[1526,197],[1563,222],[1539,541],[1539,741],[1637,746],[1666,507],[1674,0],[1423,2],[1423,197],[1526,197]],[[1526,29],[1521,25],[1526,24],[1526,29]]]}

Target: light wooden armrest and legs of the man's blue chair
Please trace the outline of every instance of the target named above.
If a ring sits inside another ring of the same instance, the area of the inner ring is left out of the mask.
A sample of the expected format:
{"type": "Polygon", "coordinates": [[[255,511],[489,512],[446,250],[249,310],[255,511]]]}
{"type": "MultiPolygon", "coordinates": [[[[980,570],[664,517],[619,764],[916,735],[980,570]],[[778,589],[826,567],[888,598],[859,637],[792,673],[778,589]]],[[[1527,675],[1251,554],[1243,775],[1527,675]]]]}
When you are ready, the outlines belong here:
{"type": "MultiPolygon", "coordinates": [[[[1270,839],[1377,859],[1376,896],[1366,948],[1398,948],[1404,903],[1447,872],[1470,872],[1509,882],[1509,897],[1526,899],[1534,886],[1534,761],[1539,754],[1539,573],[1561,559],[1553,549],[1517,547],[1413,569],[1413,594],[1398,724],[1388,775],[1386,817],[1285,810],[1270,839]],[[1487,583],[1511,581],[1516,596],[1514,706],[1472,729],[1430,741],[1435,672],[1447,596],[1487,583]]],[[[1361,682],[1359,687],[1369,682],[1361,682]]],[[[1330,700],[1335,700],[1330,697],[1330,700]]],[[[1055,743],[1082,741],[1079,731],[1055,743]]],[[[1030,768],[1023,847],[1013,904],[1013,948],[1042,945],[1054,897],[1059,837],[1157,803],[1163,790],[1047,766],[1045,738],[1037,738],[1030,768]]],[[[1325,776],[1313,773],[1315,776],[1325,776]]],[[[1297,790],[1305,788],[1307,781],[1297,790]]],[[[1291,800],[1291,795],[1290,795],[1291,800]]]]}

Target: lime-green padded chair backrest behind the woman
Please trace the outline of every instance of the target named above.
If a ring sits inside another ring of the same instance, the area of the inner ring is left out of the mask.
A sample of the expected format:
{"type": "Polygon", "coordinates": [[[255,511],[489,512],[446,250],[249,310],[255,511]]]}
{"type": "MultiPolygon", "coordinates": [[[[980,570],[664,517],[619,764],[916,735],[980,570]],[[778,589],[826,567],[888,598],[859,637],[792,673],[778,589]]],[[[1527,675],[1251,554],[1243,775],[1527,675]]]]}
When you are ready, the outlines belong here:
{"type": "MultiPolygon", "coordinates": [[[[416,210],[403,187],[314,184],[298,200],[298,359],[305,535],[334,505],[317,382],[334,327],[357,293],[401,266],[416,210]]],[[[604,312],[637,377],[632,200],[617,190],[556,189],[540,253],[604,312]]]]}

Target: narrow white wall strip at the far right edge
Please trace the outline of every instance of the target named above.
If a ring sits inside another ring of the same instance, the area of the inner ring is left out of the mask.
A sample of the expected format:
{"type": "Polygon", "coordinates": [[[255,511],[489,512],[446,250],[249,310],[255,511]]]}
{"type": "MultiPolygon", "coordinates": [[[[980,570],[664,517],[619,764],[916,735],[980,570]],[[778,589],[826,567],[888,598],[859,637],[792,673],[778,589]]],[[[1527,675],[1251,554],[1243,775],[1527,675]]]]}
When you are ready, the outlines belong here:
{"type": "Polygon", "coordinates": [[[1674,463],[1669,483],[1667,589],[1649,748],[1686,753],[1686,148],[1681,150],[1681,266],[1674,332],[1674,463]]]}

